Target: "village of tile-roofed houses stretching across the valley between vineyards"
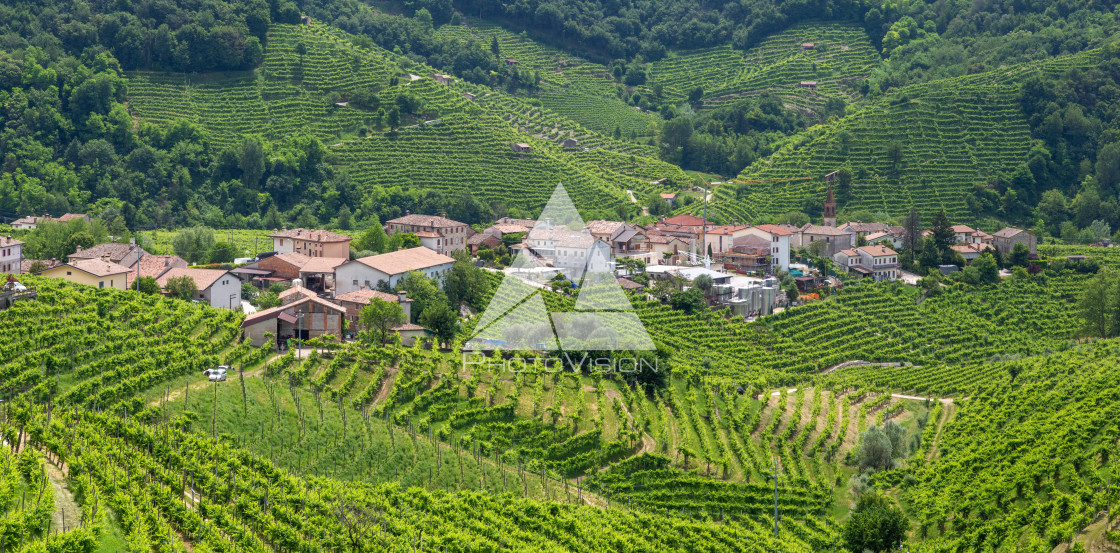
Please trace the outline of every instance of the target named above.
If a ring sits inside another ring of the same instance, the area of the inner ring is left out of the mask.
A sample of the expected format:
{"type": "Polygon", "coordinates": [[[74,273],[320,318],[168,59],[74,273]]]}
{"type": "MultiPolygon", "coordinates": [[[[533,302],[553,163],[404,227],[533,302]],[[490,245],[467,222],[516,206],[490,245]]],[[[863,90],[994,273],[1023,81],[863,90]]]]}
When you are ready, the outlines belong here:
{"type": "MultiPolygon", "coordinates": [[[[671,203],[673,195],[665,195],[664,200],[671,203]]],[[[549,219],[502,217],[480,229],[446,214],[407,213],[386,222],[383,229],[388,236],[410,235],[411,247],[355,256],[351,236],[326,229],[281,228],[268,234],[272,242],[268,252],[217,269],[192,266],[179,255],[149,253],[134,238],[86,249],[78,245],[65,260],[28,260],[21,252],[22,242],[3,236],[0,271],[122,290],[140,289],[141,282],[153,280],[165,294],[244,311],[243,336],[254,345],[265,343],[269,336],[278,345],[324,335],[352,338],[361,325],[362,309],[376,301],[399,306],[403,317],[389,330],[403,344],[430,340],[431,329],[410,317],[412,299],[400,284],[419,273],[440,285],[458,260],[535,280],[557,291],[572,291],[579,282],[568,282],[578,280],[570,275],[592,269],[608,271],[627,291],[663,301],[673,292],[697,289],[704,304],[728,308],[731,316],[746,320],[811,301],[846,282],[869,279],[915,284],[921,278],[903,271],[898,250],[907,240],[904,227],[838,224],[831,188],[822,213],[822,224],[802,226],[715,224],[694,215],[675,215],[647,225],[590,221],[580,228],[553,225],[549,219]],[[594,252],[605,261],[603,266],[590,266],[594,252]],[[511,257],[528,262],[506,266],[511,257]],[[244,298],[246,284],[274,291],[279,304],[256,309],[244,298]]],[[[57,219],[24,217],[12,228],[34,229],[47,222],[75,218],[88,221],[82,214],[57,219]]],[[[952,253],[965,263],[988,252],[1008,256],[1017,244],[1032,255],[1036,253],[1037,241],[1029,231],[1007,227],[987,234],[965,225],[951,229],[952,253]]],[[[931,233],[924,231],[923,236],[931,233]]],[[[945,274],[960,269],[955,264],[939,266],[945,274]]]]}

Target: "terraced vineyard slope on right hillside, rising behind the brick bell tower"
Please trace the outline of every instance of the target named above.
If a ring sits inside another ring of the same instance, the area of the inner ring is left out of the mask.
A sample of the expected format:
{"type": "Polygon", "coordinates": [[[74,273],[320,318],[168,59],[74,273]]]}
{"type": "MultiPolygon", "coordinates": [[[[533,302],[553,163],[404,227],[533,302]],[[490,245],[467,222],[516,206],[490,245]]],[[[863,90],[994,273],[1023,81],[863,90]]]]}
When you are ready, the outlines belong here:
{"type": "MultiPolygon", "coordinates": [[[[1033,72],[1061,73],[1095,64],[1099,53],[1054,58],[980,75],[903,88],[847,118],[791,138],[773,156],[736,179],[747,193],[717,191],[713,209],[726,219],[760,221],[819,204],[824,175],[853,172],[851,200],[841,213],[869,210],[902,217],[915,206],[923,216],[945,209],[971,217],[965,197],[1026,160],[1029,129],[1017,104],[1033,72]],[[902,146],[897,163],[892,143],[902,146]]],[[[694,209],[690,208],[690,209],[694,209]]]]}

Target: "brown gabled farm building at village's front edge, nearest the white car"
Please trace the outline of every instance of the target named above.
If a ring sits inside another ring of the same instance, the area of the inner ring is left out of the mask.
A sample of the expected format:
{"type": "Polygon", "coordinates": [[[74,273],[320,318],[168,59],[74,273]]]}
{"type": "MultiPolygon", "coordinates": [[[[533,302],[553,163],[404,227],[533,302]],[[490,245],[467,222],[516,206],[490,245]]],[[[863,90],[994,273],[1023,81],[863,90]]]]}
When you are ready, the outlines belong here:
{"type": "Polygon", "coordinates": [[[346,309],[314,296],[304,296],[291,303],[258,311],[241,324],[242,336],[253,346],[268,344],[267,335],[276,336],[277,345],[288,339],[305,340],[324,335],[342,338],[346,309]]]}

